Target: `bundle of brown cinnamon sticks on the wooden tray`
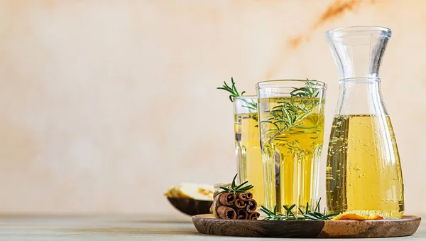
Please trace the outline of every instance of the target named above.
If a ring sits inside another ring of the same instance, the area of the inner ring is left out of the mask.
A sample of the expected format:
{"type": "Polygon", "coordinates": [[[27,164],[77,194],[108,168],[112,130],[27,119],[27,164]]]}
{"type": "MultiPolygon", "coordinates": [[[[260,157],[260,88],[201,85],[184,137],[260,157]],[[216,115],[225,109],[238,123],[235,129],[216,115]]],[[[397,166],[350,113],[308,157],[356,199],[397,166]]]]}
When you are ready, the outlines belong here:
{"type": "Polygon", "coordinates": [[[260,216],[256,208],[252,193],[216,192],[210,211],[216,218],[256,220],[260,216]]]}

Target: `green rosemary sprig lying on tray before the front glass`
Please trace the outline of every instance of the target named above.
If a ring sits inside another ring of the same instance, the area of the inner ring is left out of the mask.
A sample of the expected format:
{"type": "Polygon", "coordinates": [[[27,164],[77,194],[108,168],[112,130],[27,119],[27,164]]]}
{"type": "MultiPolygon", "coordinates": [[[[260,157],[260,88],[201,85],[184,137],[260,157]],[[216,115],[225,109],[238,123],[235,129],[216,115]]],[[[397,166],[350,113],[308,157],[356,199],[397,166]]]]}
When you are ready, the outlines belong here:
{"type": "Polygon", "coordinates": [[[330,218],[339,215],[339,213],[327,214],[324,208],[324,213],[320,213],[320,200],[318,200],[317,205],[315,206],[315,210],[312,212],[310,210],[309,203],[306,203],[305,212],[299,208],[299,212],[302,215],[295,215],[293,213],[293,208],[295,208],[295,204],[290,207],[283,205],[286,213],[285,214],[277,214],[278,205],[275,205],[273,211],[268,210],[264,206],[261,206],[261,211],[266,214],[266,218],[264,220],[331,220],[330,218]]]}

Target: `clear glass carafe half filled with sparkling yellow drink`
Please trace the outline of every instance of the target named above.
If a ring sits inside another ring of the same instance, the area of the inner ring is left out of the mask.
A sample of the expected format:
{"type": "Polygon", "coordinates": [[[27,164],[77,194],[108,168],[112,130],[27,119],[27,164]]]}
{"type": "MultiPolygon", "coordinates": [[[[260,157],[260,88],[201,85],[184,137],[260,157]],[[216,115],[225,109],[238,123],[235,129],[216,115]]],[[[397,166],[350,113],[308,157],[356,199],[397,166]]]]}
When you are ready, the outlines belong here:
{"type": "Polygon", "coordinates": [[[379,77],[391,29],[348,27],[325,35],[340,85],[327,155],[327,208],[400,218],[403,176],[379,77]]]}

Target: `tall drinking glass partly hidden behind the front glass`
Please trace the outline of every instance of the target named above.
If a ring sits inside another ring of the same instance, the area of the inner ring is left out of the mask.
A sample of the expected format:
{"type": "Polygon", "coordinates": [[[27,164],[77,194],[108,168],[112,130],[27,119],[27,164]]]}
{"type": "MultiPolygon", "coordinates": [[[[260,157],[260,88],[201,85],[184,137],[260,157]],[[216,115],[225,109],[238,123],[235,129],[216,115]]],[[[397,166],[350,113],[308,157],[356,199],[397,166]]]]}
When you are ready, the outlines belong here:
{"type": "Polygon", "coordinates": [[[235,154],[239,183],[249,181],[254,186],[253,198],[260,207],[264,203],[264,194],[257,112],[256,95],[235,98],[235,154]]]}

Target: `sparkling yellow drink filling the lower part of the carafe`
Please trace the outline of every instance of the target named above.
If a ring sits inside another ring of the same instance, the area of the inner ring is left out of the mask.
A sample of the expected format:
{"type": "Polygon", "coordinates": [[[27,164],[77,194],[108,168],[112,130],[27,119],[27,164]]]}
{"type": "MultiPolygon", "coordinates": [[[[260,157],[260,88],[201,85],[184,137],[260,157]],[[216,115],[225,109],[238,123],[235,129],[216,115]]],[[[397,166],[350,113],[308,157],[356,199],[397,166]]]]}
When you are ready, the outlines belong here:
{"type": "Polygon", "coordinates": [[[403,178],[391,121],[383,115],[334,117],[327,156],[327,208],[400,218],[403,178]]]}

